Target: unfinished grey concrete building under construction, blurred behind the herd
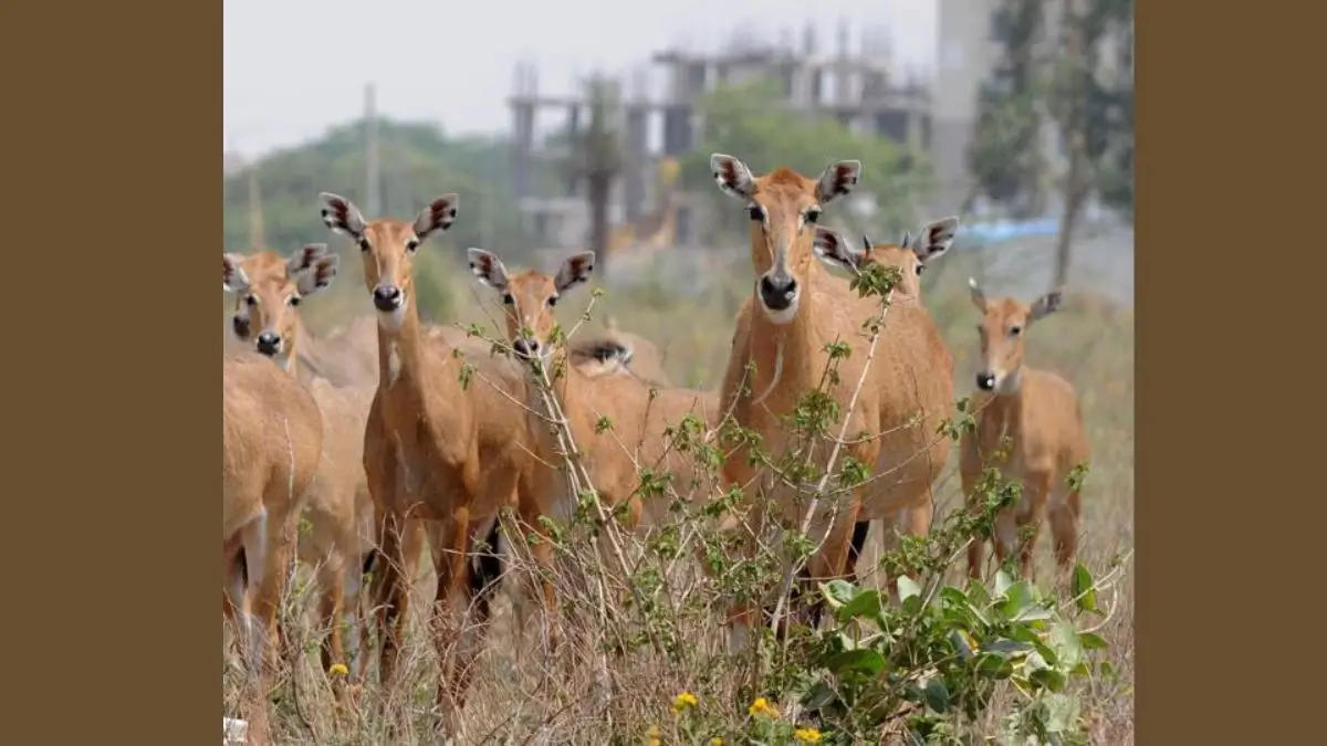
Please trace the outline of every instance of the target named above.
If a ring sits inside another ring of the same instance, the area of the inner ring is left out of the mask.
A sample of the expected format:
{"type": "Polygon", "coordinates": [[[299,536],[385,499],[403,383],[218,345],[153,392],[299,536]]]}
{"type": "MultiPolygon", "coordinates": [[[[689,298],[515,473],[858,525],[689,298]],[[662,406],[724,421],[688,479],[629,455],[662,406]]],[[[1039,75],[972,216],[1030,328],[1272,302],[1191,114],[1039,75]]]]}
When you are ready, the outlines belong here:
{"type": "MultiPolygon", "coordinates": [[[[975,86],[993,58],[986,32],[990,4],[990,0],[940,0],[940,49],[947,57],[937,65],[938,96],[920,80],[905,80],[890,69],[888,41],[878,31],[864,31],[859,49],[849,50],[844,24],[837,29],[832,52],[817,49],[815,29],[807,27],[800,44],[784,33],[778,45],[730,44],[714,53],[683,49],[656,53],[650,62],[662,73],[662,85],[652,90],[649,78],[637,74],[630,90],[618,97],[620,110],[613,114],[624,163],[609,206],[614,235],[629,244],[649,242],[650,231],[666,231],[666,243],[671,246],[695,240],[693,226],[713,195],[678,192],[675,158],[698,145],[697,133],[703,127],[698,112],[701,97],[718,85],[756,77],[778,81],[784,105],[794,110],[828,114],[857,133],[929,151],[937,165],[937,181],[951,187],[943,191],[959,192],[961,188],[953,187],[965,181],[962,150],[975,119],[975,86]],[[955,56],[955,42],[974,53],[955,56]],[[662,171],[661,163],[666,165],[662,171]]],[[[551,248],[583,244],[589,226],[583,187],[568,179],[561,194],[548,194],[548,188],[536,194],[533,175],[569,154],[565,146],[536,141],[536,117],[560,119],[555,131],[573,135],[588,126],[588,101],[580,96],[540,94],[533,68],[524,66],[518,70],[508,104],[512,186],[527,227],[551,248]]],[[[620,246],[614,239],[610,248],[632,246],[620,246]]]]}

